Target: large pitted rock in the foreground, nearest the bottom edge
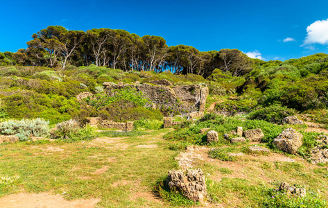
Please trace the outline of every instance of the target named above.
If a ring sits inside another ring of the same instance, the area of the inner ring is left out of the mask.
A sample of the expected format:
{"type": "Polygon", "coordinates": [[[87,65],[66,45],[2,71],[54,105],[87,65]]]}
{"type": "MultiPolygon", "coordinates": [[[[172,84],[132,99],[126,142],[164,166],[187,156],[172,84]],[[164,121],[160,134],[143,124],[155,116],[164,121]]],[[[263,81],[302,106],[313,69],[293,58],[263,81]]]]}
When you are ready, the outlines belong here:
{"type": "Polygon", "coordinates": [[[207,196],[205,177],[202,170],[187,169],[185,175],[181,170],[169,171],[166,182],[171,190],[181,191],[190,200],[204,202],[207,196]]]}

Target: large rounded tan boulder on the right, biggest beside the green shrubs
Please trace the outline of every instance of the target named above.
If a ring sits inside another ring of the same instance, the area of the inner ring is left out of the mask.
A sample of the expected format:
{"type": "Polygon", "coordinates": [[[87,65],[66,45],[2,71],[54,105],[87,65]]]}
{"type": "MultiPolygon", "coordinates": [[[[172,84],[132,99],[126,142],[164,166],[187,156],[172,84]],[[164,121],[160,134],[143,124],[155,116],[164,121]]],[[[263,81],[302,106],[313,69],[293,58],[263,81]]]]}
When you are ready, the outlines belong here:
{"type": "Polygon", "coordinates": [[[286,153],[295,154],[302,146],[303,135],[293,128],[285,129],[277,138],[273,139],[273,144],[286,153]]]}

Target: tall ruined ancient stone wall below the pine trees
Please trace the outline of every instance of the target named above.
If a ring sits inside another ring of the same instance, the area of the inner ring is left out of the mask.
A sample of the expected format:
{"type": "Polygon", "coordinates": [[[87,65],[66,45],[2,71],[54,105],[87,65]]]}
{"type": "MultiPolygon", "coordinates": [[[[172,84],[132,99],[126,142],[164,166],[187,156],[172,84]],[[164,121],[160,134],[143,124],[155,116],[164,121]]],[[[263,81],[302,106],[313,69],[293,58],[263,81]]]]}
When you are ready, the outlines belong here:
{"type": "Polygon", "coordinates": [[[209,89],[201,85],[184,85],[184,86],[157,86],[144,83],[142,85],[119,83],[103,83],[109,96],[113,96],[114,89],[132,87],[142,92],[150,100],[155,109],[170,110],[172,116],[174,112],[180,112],[182,116],[189,116],[194,112],[200,112],[201,116],[205,111],[205,103],[209,94],[209,89]]]}

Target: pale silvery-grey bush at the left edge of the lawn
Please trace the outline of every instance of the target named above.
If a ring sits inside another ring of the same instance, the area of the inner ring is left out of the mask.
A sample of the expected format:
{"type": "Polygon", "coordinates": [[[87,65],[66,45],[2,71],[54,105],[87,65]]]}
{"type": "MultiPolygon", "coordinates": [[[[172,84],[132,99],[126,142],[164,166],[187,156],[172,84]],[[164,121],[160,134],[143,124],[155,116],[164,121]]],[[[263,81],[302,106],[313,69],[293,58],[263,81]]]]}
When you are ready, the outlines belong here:
{"type": "Polygon", "coordinates": [[[10,119],[0,123],[2,135],[16,135],[19,140],[27,140],[30,135],[35,137],[47,137],[49,135],[49,121],[44,119],[10,119]]]}

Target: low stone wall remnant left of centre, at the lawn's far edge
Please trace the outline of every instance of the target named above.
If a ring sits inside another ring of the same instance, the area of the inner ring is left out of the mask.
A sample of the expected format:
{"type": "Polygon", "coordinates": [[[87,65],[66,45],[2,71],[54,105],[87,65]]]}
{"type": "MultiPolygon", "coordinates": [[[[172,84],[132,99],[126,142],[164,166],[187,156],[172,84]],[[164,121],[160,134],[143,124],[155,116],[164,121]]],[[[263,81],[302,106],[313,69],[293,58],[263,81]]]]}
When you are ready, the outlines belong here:
{"type": "Polygon", "coordinates": [[[127,131],[133,130],[133,121],[120,123],[115,121],[102,120],[101,118],[94,117],[94,118],[87,118],[87,122],[89,125],[97,126],[98,128],[113,128],[117,130],[127,130],[127,131]]]}

